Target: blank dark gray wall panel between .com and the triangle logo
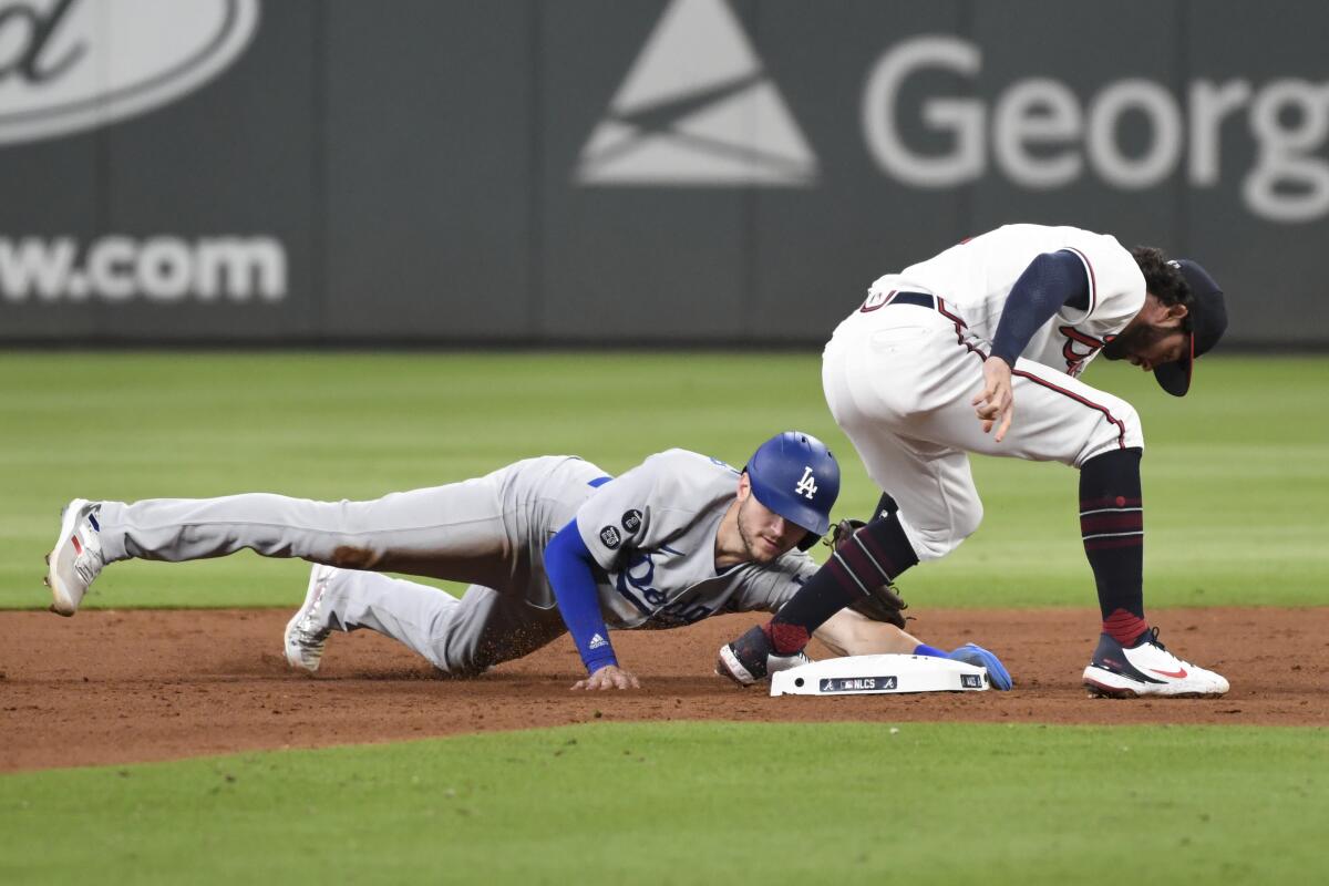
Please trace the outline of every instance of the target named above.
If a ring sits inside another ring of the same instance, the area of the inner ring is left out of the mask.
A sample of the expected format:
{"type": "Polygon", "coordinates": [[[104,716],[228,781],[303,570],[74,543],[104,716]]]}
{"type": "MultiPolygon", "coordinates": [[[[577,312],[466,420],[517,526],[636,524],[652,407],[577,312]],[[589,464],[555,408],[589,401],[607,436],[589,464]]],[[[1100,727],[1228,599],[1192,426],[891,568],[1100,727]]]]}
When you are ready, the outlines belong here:
{"type": "Polygon", "coordinates": [[[532,29],[524,3],[330,4],[324,333],[534,333],[532,29]]]}

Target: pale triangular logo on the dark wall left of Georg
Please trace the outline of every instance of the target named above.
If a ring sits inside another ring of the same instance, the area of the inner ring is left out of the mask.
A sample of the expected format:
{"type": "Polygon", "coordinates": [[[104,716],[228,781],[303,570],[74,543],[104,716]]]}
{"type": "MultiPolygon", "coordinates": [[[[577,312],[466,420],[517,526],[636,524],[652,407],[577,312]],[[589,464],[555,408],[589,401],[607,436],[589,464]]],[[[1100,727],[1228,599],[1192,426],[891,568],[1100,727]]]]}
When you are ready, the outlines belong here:
{"type": "Polygon", "coordinates": [[[674,0],[591,132],[582,185],[807,186],[817,161],[724,0],[674,0]]]}

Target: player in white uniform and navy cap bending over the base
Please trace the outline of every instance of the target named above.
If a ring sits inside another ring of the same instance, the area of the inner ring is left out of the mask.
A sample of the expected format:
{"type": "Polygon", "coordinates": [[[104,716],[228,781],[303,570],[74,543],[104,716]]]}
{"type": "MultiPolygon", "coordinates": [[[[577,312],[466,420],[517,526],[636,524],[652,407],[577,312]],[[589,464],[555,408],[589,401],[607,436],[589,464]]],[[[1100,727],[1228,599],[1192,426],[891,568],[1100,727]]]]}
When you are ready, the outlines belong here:
{"type": "Polygon", "coordinates": [[[1224,677],[1164,648],[1144,618],[1140,420],[1078,381],[1102,352],[1152,371],[1180,397],[1225,328],[1223,292],[1199,264],[1074,227],[1010,224],[878,279],[827,345],[823,387],[886,494],[768,624],[720,650],[718,668],[750,683],[864,587],[953,551],[982,519],[974,452],[1079,469],[1103,616],[1083,673],[1091,693],[1227,692],[1224,677]]]}

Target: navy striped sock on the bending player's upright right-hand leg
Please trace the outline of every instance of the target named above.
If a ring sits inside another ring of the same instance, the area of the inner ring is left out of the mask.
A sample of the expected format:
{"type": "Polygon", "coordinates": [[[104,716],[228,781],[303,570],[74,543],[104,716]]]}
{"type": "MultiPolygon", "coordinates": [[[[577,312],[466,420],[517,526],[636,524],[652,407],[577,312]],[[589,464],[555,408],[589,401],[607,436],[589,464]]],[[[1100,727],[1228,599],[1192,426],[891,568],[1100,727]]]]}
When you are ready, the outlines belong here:
{"type": "Polygon", "coordinates": [[[1103,634],[1130,646],[1144,620],[1144,507],[1142,449],[1096,456],[1080,468],[1080,537],[1094,569],[1103,634]]]}

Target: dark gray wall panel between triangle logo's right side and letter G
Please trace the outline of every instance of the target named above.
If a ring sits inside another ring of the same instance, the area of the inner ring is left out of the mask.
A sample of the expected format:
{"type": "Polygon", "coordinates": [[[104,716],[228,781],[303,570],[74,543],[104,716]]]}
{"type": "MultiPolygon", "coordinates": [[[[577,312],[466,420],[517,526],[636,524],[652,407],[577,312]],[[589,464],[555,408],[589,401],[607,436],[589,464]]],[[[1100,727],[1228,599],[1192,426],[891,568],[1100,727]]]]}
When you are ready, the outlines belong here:
{"type": "Polygon", "coordinates": [[[793,0],[759,7],[754,37],[817,154],[815,187],[754,194],[755,292],[744,332],[808,341],[857,307],[868,286],[968,230],[966,191],[909,187],[881,174],[863,137],[864,82],[894,41],[965,25],[968,4],[836,4],[809,16],[793,0]]]}

